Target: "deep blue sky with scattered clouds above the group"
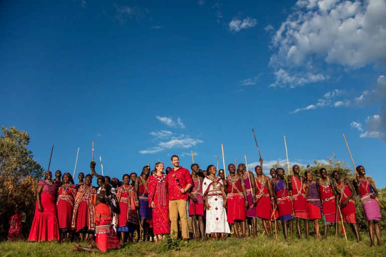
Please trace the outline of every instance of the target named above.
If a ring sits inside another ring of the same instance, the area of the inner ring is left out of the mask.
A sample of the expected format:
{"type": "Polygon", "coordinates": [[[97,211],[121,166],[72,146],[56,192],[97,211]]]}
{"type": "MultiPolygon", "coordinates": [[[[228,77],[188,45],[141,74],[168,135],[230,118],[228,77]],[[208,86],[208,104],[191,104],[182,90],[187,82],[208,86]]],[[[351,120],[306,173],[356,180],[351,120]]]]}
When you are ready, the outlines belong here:
{"type": "Polygon", "coordinates": [[[2,1],[0,122],[36,160],[139,173],[332,153],[385,187],[386,2],[2,1]],[[383,160],[383,161],[382,161],[383,160]],[[99,166],[97,166],[99,167],[99,166]]]}

